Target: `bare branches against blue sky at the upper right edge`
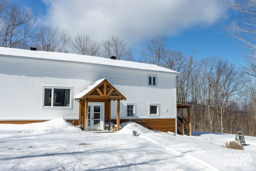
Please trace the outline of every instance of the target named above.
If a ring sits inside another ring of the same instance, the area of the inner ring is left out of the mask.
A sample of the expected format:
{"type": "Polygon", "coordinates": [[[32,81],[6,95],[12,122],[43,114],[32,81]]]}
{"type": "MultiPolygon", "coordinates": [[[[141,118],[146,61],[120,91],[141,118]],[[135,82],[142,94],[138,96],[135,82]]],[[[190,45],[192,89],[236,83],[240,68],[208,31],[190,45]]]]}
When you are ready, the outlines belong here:
{"type": "Polygon", "coordinates": [[[249,66],[244,67],[247,74],[256,77],[256,5],[255,1],[218,0],[227,8],[240,12],[237,20],[226,24],[225,28],[239,47],[246,49],[246,60],[249,66]]]}

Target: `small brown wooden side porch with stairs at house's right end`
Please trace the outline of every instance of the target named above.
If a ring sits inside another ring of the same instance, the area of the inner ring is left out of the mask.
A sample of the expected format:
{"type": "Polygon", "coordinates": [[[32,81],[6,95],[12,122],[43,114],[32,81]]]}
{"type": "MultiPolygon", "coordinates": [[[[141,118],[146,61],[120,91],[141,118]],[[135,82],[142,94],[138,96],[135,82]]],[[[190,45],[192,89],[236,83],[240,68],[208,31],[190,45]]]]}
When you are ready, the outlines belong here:
{"type": "Polygon", "coordinates": [[[192,136],[190,107],[191,105],[177,104],[177,134],[192,136]]]}

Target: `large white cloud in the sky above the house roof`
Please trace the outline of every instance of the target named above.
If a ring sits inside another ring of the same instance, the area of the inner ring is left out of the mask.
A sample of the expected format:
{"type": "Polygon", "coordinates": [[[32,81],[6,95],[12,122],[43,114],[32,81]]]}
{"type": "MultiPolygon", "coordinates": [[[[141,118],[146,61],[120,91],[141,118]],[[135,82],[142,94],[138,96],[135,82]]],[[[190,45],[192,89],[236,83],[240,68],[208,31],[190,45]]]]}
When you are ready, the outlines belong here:
{"type": "Polygon", "coordinates": [[[129,45],[156,34],[175,35],[195,26],[211,26],[225,15],[215,0],[45,0],[44,22],[102,40],[112,35],[129,45]]]}

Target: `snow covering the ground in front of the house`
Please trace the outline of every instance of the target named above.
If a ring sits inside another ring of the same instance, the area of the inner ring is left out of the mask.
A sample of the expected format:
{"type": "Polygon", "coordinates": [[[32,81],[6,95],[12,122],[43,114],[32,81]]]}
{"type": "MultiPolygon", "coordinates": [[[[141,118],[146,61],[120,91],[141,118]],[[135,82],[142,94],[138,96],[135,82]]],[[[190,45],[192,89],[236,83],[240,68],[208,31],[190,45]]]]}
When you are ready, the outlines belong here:
{"type": "Polygon", "coordinates": [[[63,117],[0,124],[1,170],[255,170],[256,137],[244,151],[222,147],[232,134],[172,136],[136,123],[119,132],[80,131],[63,117]],[[137,131],[133,136],[132,131],[137,131]]]}

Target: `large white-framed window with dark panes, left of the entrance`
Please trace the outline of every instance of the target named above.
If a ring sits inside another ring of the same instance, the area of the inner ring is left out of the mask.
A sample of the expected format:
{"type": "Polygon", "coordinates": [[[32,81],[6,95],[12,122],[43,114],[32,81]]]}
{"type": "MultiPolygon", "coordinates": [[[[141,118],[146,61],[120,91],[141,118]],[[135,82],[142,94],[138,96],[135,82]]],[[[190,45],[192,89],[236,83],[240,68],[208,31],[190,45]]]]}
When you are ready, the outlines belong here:
{"type": "Polygon", "coordinates": [[[70,87],[42,87],[42,107],[63,107],[72,106],[72,88],[70,87]]]}

